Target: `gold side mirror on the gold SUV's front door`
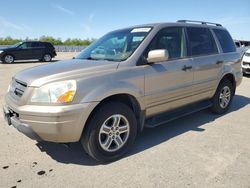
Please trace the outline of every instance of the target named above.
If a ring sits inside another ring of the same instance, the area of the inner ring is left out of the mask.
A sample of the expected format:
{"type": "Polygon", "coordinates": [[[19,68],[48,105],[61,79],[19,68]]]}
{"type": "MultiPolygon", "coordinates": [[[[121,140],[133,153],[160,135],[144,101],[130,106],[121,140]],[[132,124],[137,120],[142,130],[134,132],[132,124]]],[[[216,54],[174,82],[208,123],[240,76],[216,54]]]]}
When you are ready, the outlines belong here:
{"type": "Polygon", "coordinates": [[[148,63],[158,63],[162,61],[167,61],[168,60],[168,51],[167,50],[151,50],[148,52],[148,63]]]}

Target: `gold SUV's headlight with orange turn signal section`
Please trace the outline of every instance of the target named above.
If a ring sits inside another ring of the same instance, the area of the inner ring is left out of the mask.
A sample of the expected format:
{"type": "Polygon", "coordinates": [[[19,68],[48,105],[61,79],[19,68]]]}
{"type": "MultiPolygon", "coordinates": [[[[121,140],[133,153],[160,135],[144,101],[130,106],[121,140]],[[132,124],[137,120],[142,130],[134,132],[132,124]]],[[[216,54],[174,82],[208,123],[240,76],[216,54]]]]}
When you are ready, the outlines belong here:
{"type": "Polygon", "coordinates": [[[76,93],[76,81],[68,80],[46,84],[35,89],[31,102],[69,103],[76,93]]]}

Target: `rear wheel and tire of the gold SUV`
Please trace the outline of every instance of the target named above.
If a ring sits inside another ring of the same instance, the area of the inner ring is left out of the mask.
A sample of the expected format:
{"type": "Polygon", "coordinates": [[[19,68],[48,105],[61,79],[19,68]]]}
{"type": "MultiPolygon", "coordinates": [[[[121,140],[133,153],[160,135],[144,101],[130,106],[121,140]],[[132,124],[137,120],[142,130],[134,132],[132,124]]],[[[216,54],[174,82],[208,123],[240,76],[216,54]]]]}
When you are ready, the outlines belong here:
{"type": "Polygon", "coordinates": [[[233,84],[230,80],[222,80],[212,98],[211,111],[215,114],[225,113],[232,102],[234,95],[233,84]]]}

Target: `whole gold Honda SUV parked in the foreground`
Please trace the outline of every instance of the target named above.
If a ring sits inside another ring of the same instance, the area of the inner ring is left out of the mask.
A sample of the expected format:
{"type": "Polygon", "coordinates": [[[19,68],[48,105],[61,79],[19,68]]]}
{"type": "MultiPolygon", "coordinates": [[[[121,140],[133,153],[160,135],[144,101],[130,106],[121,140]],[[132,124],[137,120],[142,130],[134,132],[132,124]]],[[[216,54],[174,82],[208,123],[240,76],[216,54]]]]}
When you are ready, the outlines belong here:
{"type": "Polygon", "coordinates": [[[110,32],[72,60],[17,73],[3,110],[32,139],[80,141],[110,162],[144,127],[205,108],[225,113],[241,80],[240,54],[220,24],[147,24],[110,32]]]}

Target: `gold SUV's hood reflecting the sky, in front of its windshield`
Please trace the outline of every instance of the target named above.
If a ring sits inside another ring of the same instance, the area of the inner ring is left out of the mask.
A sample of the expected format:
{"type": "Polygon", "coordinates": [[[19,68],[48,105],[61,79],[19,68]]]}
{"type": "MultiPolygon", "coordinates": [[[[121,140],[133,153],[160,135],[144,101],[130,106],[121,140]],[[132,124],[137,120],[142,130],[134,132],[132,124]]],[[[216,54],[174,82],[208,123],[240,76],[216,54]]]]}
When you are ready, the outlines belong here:
{"type": "Polygon", "coordinates": [[[94,76],[105,71],[116,70],[119,62],[72,59],[58,61],[25,69],[15,75],[15,79],[31,87],[59,80],[94,76]]]}

